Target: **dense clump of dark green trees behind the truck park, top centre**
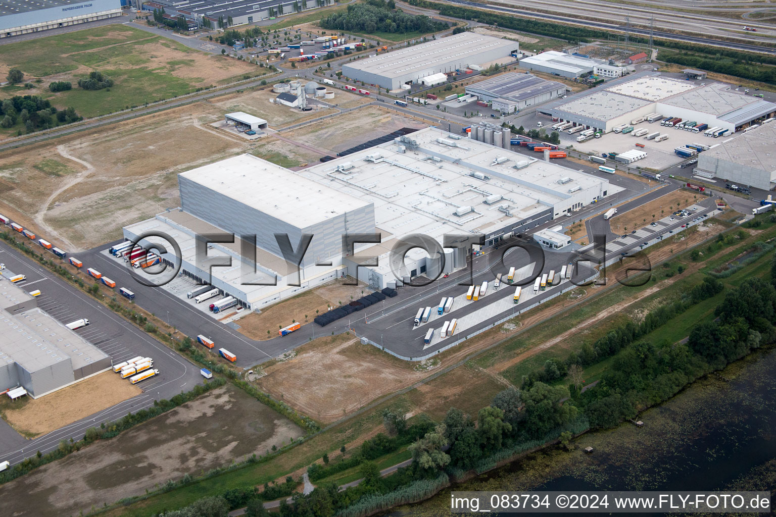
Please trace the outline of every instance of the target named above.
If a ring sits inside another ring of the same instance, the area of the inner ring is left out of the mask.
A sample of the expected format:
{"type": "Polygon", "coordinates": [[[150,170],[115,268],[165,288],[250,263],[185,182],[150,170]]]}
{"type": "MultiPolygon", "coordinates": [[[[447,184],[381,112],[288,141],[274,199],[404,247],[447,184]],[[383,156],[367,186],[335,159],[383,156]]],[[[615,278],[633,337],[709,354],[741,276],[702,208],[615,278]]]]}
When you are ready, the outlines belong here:
{"type": "Polygon", "coordinates": [[[423,15],[410,15],[395,9],[393,1],[369,0],[363,4],[348,5],[345,12],[334,12],[320,20],[324,29],[343,30],[355,33],[435,33],[449,29],[445,22],[439,22],[423,15]]]}

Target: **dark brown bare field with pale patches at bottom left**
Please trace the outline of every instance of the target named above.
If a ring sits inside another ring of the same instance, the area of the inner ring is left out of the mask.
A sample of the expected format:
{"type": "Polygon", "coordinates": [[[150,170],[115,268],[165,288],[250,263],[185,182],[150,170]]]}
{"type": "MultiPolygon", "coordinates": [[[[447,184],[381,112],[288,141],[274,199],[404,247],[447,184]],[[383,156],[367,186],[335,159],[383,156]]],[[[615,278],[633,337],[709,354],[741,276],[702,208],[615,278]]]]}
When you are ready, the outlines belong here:
{"type": "Polygon", "coordinates": [[[184,474],[263,455],[303,436],[285,417],[227,385],[0,486],[0,515],[88,512],[184,474]]]}

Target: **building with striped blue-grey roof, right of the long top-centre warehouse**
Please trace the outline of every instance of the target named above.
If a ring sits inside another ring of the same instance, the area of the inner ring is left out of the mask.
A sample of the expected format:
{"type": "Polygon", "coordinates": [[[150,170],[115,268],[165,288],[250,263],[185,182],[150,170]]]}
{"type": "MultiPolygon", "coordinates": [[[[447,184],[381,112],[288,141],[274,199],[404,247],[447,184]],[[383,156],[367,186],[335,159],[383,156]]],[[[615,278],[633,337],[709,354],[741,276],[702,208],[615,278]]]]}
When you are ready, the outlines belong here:
{"type": "Polygon", "coordinates": [[[531,74],[508,72],[466,87],[466,93],[503,113],[514,113],[566,94],[566,86],[531,74]]]}

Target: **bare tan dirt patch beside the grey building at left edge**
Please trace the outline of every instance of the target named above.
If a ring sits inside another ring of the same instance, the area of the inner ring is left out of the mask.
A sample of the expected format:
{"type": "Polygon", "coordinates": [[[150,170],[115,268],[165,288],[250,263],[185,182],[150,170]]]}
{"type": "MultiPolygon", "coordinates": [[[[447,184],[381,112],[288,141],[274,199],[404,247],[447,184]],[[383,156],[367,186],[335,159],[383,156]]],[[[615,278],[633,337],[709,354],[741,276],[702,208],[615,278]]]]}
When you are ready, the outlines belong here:
{"type": "Polygon", "coordinates": [[[27,438],[34,438],[113,407],[143,390],[113,371],[54,391],[41,398],[0,402],[3,419],[27,438]]]}

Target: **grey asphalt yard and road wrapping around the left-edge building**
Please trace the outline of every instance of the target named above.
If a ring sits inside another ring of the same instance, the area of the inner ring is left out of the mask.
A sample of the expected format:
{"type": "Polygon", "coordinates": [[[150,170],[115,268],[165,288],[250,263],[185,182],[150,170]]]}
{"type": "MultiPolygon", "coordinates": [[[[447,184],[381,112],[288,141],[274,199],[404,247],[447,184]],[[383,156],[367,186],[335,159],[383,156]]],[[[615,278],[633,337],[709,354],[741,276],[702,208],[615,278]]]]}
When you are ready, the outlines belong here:
{"type": "Polygon", "coordinates": [[[120,419],[127,412],[137,412],[153,405],[154,400],[169,399],[182,391],[189,391],[194,384],[203,381],[199,367],[189,360],[147,336],[137,326],[2,241],[0,262],[9,271],[26,275],[26,281],[20,283],[20,287],[29,286],[30,291],[40,289],[42,294],[38,297],[39,307],[57,321],[68,323],[74,319],[88,319],[89,326],[76,332],[108,353],[114,364],[143,355],[152,357],[154,368],[159,371],[158,376],[138,384],[143,389],[142,394],[40,438],[23,439],[5,422],[0,423],[0,461],[9,460],[16,464],[38,450],[47,453],[56,449],[63,439],[81,439],[89,427],[120,419]]]}

